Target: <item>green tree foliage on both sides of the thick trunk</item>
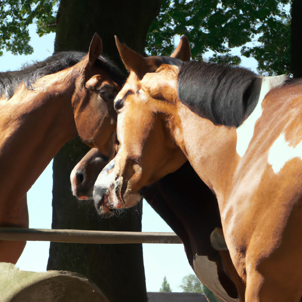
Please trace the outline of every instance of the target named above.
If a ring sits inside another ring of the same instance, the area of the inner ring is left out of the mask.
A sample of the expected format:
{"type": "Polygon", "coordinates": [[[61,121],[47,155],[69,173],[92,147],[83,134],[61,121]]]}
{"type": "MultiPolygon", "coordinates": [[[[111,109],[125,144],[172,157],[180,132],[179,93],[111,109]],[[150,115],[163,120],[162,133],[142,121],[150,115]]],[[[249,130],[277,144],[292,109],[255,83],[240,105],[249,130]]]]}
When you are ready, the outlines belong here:
{"type": "MultiPolygon", "coordinates": [[[[162,0],[159,15],[149,28],[146,53],[170,55],[174,36],[185,34],[191,42],[192,59],[202,60],[212,50],[210,62],[238,65],[231,48],[242,47],[243,56],[254,57],[259,73],[289,72],[291,0],[162,0]],[[246,43],[256,41],[249,47],[246,43]]],[[[29,54],[28,25],[37,33],[56,30],[59,0],[2,0],[0,2],[0,55],[6,49],[29,54]]]]}

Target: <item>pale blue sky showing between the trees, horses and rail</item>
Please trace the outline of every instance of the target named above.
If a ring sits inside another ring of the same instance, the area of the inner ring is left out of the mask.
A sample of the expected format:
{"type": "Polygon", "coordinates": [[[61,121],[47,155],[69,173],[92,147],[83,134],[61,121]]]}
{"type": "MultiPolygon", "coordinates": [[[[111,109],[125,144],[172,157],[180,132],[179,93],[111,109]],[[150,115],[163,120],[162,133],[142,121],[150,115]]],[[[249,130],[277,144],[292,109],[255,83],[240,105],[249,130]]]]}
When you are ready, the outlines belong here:
{"type": "MultiPolygon", "coordinates": [[[[31,46],[34,53],[31,55],[14,56],[4,53],[0,57],[0,72],[17,70],[22,64],[31,60],[44,60],[53,53],[55,34],[47,34],[39,37],[36,34],[35,25],[29,26],[31,46]]],[[[179,37],[175,37],[175,44],[179,37]]],[[[240,56],[240,48],[232,50],[233,55],[240,56]]],[[[205,57],[211,56],[207,53],[205,57]]],[[[256,72],[257,62],[253,58],[241,57],[241,66],[256,72]]],[[[29,227],[37,229],[51,229],[52,220],[52,162],[37,179],[27,193],[29,210],[29,227]]],[[[171,228],[159,217],[151,206],[143,203],[143,232],[172,232],[171,228]]],[[[29,241],[17,262],[17,266],[25,271],[46,271],[49,242],[29,241]]],[[[188,264],[182,244],[143,244],[143,257],[146,274],[147,291],[159,291],[164,276],[167,277],[172,291],[181,291],[178,286],[185,275],[193,273],[188,264]]]]}

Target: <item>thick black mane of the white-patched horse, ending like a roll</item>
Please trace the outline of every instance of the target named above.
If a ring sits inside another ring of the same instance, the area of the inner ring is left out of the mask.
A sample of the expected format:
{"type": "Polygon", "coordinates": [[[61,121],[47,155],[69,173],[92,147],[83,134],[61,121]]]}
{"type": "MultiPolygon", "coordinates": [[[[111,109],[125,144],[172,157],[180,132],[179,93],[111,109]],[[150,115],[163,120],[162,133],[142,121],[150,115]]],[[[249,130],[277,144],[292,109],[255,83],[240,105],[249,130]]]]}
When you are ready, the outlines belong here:
{"type": "Polygon", "coordinates": [[[178,75],[178,99],[214,124],[238,127],[255,109],[261,84],[245,68],[190,61],[178,75]]]}

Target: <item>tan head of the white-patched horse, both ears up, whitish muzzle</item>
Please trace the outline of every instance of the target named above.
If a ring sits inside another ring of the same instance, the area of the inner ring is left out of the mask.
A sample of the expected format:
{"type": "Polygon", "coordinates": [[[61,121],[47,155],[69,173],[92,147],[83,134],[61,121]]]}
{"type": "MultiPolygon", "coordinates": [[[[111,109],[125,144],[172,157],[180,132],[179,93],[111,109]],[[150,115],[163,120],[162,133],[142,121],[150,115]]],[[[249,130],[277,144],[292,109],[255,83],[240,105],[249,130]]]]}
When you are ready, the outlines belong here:
{"type": "Polygon", "coordinates": [[[98,177],[94,199],[98,203],[103,198],[107,185],[109,207],[121,208],[137,204],[142,187],[176,171],[187,160],[165,124],[169,113],[177,110],[178,71],[191,52],[185,36],[170,57],[144,58],[117,38],[116,43],[130,75],[114,102],[120,143],[114,172],[104,174],[105,180],[98,177]]]}

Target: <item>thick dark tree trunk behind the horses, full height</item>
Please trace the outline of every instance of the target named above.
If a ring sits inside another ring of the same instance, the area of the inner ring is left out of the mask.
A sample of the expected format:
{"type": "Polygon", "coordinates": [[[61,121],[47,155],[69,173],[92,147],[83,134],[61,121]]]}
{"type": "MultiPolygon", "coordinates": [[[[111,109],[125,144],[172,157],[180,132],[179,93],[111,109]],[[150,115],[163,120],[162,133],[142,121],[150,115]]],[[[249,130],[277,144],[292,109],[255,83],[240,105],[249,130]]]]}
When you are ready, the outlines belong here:
{"type": "MultiPolygon", "coordinates": [[[[88,52],[93,34],[103,53],[121,68],[114,35],[143,54],[146,34],[161,0],[62,0],[57,16],[55,51],[88,52]]],[[[142,204],[113,218],[100,218],[91,202],[72,196],[69,175],[88,151],[79,137],[53,160],[53,229],[141,231],[142,204]]],[[[111,302],[147,301],[141,244],[96,245],[51,243],[47,270],[78,272],[94,282],[111,302]]]]}

